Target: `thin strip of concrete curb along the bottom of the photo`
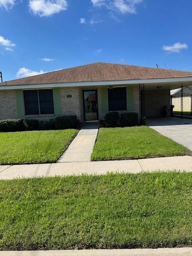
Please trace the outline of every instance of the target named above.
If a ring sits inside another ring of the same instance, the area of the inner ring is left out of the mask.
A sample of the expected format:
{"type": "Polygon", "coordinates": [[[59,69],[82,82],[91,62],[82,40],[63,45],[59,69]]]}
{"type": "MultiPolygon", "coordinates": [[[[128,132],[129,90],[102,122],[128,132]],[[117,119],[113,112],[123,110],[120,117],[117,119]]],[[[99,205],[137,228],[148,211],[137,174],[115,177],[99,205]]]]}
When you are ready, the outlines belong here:
{"type": "Polygon", "coordinates": [[[10,251],[0,256],[192,256],[192,248],[122,249],[122,250],[61,250],[10,251]]]}

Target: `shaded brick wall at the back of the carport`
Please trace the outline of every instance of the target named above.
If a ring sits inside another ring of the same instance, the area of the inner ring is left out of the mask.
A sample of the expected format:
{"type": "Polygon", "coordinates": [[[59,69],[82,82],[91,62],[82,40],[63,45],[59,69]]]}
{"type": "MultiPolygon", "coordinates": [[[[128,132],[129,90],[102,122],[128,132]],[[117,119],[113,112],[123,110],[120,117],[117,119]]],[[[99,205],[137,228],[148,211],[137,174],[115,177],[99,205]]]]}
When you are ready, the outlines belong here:
{"type": "Polygon", "coordinates": [[[146,117],[161,116],[161,109],[166,105],[170,115],[170,90],[145,90],[146,117]]]}

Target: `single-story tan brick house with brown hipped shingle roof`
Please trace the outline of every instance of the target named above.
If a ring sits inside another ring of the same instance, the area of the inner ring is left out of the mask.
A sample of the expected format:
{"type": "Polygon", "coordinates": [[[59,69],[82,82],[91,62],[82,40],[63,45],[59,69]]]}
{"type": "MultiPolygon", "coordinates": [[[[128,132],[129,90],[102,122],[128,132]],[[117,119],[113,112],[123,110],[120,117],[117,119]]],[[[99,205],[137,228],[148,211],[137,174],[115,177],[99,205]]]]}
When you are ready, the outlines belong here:
{"type": "Polygon", "coordinates": [[[98,62],[0,83],[0,119],[76,115],[84,122],[109,111],[156,117],[170,109],[170,90],[190,84],[192,72],[98,62]]]}

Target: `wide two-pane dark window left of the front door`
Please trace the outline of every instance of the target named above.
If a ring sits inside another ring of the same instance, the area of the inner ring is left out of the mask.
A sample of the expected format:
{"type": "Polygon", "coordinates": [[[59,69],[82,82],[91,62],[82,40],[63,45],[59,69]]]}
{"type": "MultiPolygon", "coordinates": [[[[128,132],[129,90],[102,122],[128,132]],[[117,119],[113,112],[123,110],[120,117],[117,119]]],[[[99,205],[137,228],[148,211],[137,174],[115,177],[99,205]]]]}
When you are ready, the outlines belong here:
{"type": "Polygon", "coordinates": [[[52,89],[24,90],[23,95],[26,115],[54,114],[52,89]]]}

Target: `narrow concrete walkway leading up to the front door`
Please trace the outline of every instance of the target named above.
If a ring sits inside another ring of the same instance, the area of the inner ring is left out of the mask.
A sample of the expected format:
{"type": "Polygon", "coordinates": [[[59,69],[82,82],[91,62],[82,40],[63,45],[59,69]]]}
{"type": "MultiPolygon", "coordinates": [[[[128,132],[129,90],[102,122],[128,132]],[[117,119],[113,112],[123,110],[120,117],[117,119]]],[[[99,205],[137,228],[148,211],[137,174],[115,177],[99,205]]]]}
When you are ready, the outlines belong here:
{"type": "Polygon", "coordinates": [[[97,124],[85,124],[68,146],[64,154],[59,158],[58,163],[90,162],[97,133],[97,124]]]}

